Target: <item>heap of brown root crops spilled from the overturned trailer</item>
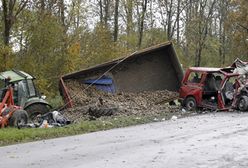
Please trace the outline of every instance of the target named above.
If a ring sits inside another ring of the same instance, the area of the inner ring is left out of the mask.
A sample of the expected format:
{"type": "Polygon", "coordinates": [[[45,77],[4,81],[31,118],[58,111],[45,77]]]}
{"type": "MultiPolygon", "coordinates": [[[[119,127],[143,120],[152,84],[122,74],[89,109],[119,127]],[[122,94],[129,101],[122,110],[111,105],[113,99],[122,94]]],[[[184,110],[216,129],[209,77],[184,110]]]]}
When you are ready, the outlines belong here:
{"type": "Polygon", "coordinates": [[[94,86],[87,88],[88,85],[78,81],[67,81],[66,86],[74,107],[66,109],[64,114],[73,121],[92,116],[139,116],[179,111],[179,107],[168,104],[178,98],[178,93],[167,90],[111,94],[97,90],[94,86]]]}

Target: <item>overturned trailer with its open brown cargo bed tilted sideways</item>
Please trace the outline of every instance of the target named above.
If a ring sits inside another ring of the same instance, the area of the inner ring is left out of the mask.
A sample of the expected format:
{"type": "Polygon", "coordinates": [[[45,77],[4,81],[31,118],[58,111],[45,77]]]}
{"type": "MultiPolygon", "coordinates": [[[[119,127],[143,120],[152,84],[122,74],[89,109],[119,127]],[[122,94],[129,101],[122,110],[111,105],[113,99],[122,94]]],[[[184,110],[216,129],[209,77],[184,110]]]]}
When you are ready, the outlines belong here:
{"type": "MultiPolygon", "coordinates": [[[[178,91],[183,70],[171,42],[156,45],[129,56],[64,75],[60,93],[73,106],[66,83],[76,80],[106,92],[178,91]]],[[[80,94],[80,93],[79,93],[80,94]]]]}

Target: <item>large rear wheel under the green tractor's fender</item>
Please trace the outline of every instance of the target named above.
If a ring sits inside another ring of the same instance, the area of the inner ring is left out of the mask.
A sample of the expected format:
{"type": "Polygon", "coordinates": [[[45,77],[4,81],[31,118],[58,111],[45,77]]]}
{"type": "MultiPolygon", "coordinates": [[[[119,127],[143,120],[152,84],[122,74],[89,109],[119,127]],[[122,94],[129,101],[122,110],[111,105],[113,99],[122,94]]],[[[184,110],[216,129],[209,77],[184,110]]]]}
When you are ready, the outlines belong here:
{"type": "Polygon", "coordinates": [[[49,112],[50,109],[45,104],[32,104],[28,106],[25,110],[28,112],[30,120],[35,121],[37,119],[37,115],[43,115],[49,112]]]}

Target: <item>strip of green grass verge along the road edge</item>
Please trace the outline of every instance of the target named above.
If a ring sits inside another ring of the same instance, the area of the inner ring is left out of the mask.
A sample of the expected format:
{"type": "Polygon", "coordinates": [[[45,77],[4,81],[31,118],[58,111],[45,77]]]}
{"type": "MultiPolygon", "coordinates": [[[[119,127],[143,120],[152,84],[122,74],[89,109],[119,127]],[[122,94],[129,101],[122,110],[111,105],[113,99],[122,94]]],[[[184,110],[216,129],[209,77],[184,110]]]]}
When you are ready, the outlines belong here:
{"type": "Polygon", "coordinates": [[[4,128],[0,129],[0,146],[78,135],[96,131],[121,128],[150,122],[164,121],[178,113],[163,113],[148,116],[104,117],[92,121],[81,121],[64,127],[55,128],[4,128]]]}

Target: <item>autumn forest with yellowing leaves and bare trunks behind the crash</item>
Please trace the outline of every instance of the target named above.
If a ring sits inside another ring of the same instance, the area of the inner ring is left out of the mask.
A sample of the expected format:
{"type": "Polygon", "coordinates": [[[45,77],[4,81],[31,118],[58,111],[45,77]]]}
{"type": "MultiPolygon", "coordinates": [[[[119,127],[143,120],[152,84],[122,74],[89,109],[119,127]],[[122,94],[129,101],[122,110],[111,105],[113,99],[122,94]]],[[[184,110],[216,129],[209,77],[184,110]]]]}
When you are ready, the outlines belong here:
{"type": "Polygon", "coordinates": [[[172,41],[184,68],[248,60],[247,0],[1,0],[0,71],[62,74],[172,41]]]}

